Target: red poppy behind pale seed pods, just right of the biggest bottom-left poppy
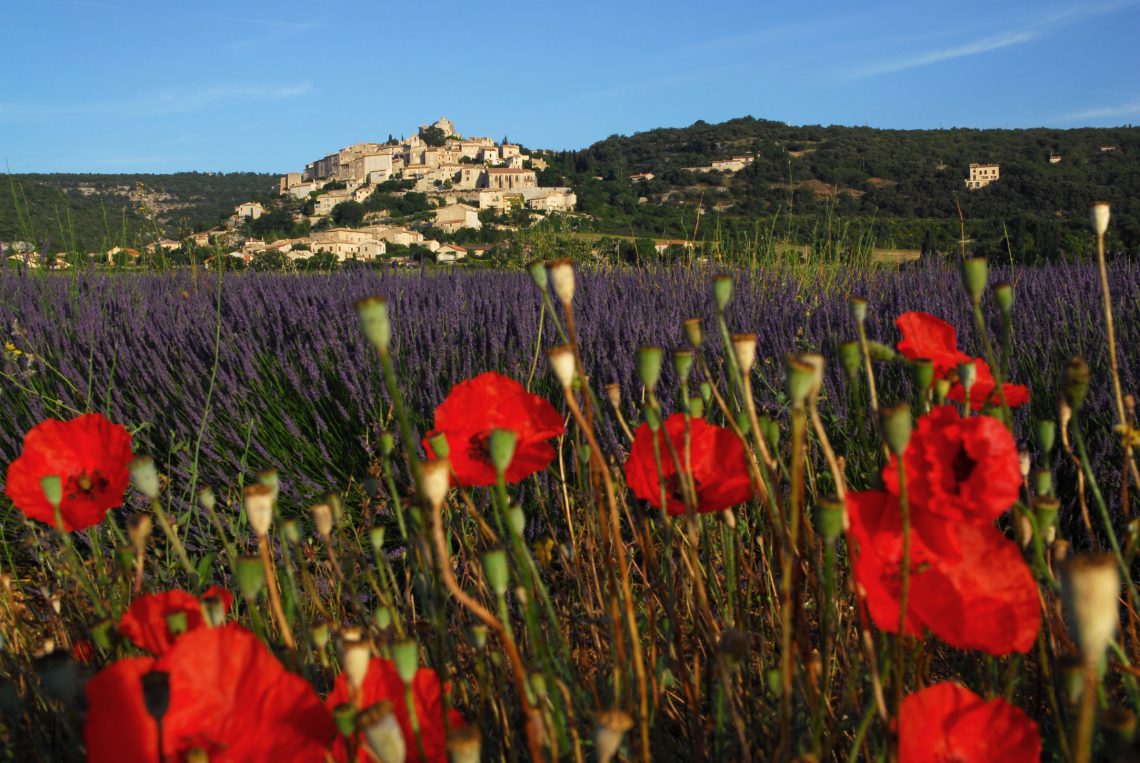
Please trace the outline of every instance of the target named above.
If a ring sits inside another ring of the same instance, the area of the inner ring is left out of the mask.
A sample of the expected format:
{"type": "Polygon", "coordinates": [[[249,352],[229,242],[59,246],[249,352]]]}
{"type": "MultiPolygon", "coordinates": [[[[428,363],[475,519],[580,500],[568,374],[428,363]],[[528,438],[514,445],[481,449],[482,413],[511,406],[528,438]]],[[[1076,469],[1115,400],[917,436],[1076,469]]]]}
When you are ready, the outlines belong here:
{"type": "MultiPolygon", "coordinates": [[[[416,736],[412,730],[412,719],[408,715],[408,703],[405,697],[404,681],[396,671],[396,663],[390,659],[373,658],[368,664],[368,673],[365,675],[364,685],[360,688],[361,697],[358,705],[364,708],[375,705],[378,701],[388,700],[392,703],[392,712],[404,732],[404,742],[407,748],[408,763],[420,760],[446,763],[447,761],[447,732],[466,724],[463,716],[454,707],[448,707],[447,725],[443,725],[443,692],[449,691],[442,685],[435,671],[422,667],[416,672],[416,677],[412,680],[412,701],[416,708],[416,720],[420,722],[420,739],[424,746],[424,758],[420,757],[420,749],[416,746],[416,736]]],[[[342,703],[349,701],[348,682],[344,674],[336,676],[333,690],[325,699],[325,705],[329,709],[342,703]]],[[[343,761],[347,756],[344,741],[340,738],[334,747],[336,760],[343,761]]],[[[372,757],[360,750],[359,761],[372,761],[372,757]]]]}

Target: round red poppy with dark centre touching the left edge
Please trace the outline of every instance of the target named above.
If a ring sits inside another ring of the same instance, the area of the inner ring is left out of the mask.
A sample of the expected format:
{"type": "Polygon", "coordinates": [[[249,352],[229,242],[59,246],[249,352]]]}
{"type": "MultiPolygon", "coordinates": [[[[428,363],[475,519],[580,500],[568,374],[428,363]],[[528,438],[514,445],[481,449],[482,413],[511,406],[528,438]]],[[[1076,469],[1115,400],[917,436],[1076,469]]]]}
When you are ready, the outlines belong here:
{"type": "Polygon", "coordinates": [[[24,451],[8,466],[5,490],[24,514],[55,527],[56,512],[43,497],[40,480],[58,477],[64,488],[59,504],[64,529],[82,530],[122,505],[130,482],[127,464],[133,457],[130,433],[103,414],[48,419],[24,435],[24,451]]]}

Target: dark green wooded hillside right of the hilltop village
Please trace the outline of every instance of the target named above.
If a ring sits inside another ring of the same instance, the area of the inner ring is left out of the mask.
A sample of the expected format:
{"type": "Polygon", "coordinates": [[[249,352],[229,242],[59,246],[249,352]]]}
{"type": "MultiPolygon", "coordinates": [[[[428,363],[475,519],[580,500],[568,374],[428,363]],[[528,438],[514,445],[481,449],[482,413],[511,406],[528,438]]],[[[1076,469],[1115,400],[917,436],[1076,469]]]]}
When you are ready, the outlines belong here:
{"type": "Polygon", "coordinates": [[[746,116],[544,157],[544,182],[568,181],[579,210],[611,233],[684,235],[700,205],[717,213],[722,232],[789,211],[803,229],[828,212],[899,245],[945,247],[958,236],[960,203],[979,249],[1053,259],[1083,233],[1089,202],[1107,198],[1117,245],[1140,249],[1140,128],[878,130],[746,116]],[[736,155],[756,159],[733,173],[686,169],[736,155]],[[999,163],[1001,179],[967,190],[971,162],[999,163]],[[654,177],[629,179],[643,172],[654,177]]]}

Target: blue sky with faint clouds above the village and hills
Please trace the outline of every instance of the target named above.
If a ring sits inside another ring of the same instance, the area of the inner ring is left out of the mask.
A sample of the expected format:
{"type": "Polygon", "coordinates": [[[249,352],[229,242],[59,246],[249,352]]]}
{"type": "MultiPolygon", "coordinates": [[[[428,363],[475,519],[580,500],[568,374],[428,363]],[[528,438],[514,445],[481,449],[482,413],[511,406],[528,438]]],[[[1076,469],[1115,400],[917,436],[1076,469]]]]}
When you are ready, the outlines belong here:
{"type": "Polygon", "coordinates": [[[1140,0],[15,0],[13,172],[300,170],[446,114],[580,148],[751,114],[883,128],[1140,122],[1140,0]]]}

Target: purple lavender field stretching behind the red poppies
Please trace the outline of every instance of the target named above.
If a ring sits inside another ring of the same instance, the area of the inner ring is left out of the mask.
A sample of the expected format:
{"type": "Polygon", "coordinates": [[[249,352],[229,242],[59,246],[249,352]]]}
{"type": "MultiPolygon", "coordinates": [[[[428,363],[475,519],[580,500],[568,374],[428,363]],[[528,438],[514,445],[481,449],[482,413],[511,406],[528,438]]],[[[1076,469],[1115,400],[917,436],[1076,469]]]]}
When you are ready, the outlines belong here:
{"type": "MultiPolygon", "coordinates": [[[[628,399],[637,388],[638,346],[681,346],[687,317],[705,316],[712,325],[711,275],[673,270],[580,278],[580,344],[598,392],[618,382],[628,399]]],[[[1105,424],[1096,428],[1096,448],[1105,452],[1110,390],[1096,269],[997,274],[1003,276],[1012,277],[1017,291],[1012,378],[1035,393],[1031,413],[1021,415],[1050,416],[1059,368],[1070,355],[1083,355],[1094,379],[1089,407],[1105,424]]],[[[771,405],[779,405],[784,354],[823,352],[831,362],[824,408],[844,430],[847,406],[834,347],[853,338],[846,297],[869,300],[869,331],[885,343],[898,339],[895,316],[923,310],[958,326],[960,344],[980,355],[956,281],[956,270],[939,268],[847,273],[821,292],[822,281],[739,274],[730,328],[759,335],[760,374],[771,384],[756,389],[771,405]]],[[[1122,378],[1125,389],[1137,389],[1140,267],[1117,263],[1110,282],[1122,378]]],[[[369,294],[390,300],[394,355],[422,428],[461,379],[489,368],[523,381],[531,374],[542,302],[524,274],[229,275],[220,300],[218,287],[215,276],[189,274],[0,277],[6,348],[0,463],[17,455],[22,433],[36,421],[93,409],[141,427],[138,441],[182,478],[197,453],[201,480],[219,487],[272,465],[288,478],[287,500],[343,488],[363,476],[367,443],[388,415],[378,366],[351,308],[369,294]]],[[[549,320],[543,325],[552,332],[549,320]]],[[[903,371],[883,373],[889,399],[893,388],[903,389],[897,385],[903,371]]],[[[547,384],[539,359],[534,385],[543,392],[547,384]]],[[[665,385],[669,389],[668,373],[665,385]]],[[[606,435],[620,454],[616,430],[606,435]]]]}

